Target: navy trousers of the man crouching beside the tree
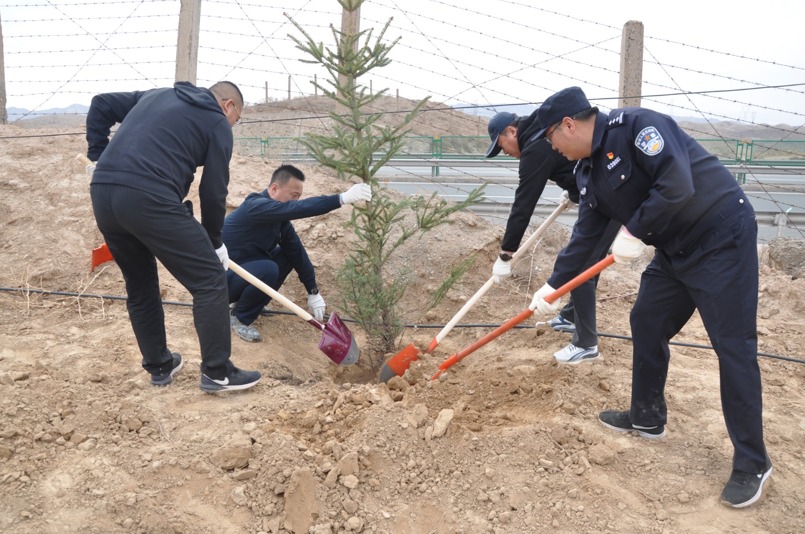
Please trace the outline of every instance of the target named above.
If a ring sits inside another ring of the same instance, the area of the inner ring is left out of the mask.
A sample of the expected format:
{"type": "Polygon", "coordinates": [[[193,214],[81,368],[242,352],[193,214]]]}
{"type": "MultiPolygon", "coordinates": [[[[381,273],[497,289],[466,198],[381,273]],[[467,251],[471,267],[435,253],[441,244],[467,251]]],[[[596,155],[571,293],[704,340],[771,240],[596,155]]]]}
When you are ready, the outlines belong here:
{"type": "MultiPolygon", "coordinates": [[[[242,263],[241,267],[254,274],[272,290],[279,291],[288,274],[293,270],[293,265],[283,249],[279,247],[271,251],[269,258],[247,260],[242,263]]],[[[233,314],[246,326],[254,322],[263,306],[271,302],[268,295],[232,271],[226,273],[226,283],[229,286],[229,303],[237,302],[233,314]]]]}

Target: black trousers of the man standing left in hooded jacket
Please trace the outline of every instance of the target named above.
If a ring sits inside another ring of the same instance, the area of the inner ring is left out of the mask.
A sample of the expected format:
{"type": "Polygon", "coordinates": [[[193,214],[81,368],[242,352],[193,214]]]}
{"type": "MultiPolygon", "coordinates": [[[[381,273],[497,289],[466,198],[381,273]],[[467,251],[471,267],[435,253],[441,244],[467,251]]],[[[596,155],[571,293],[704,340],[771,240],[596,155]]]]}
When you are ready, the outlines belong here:
{"type": "Polygon", "coordinates": [[[224,267],[189,203],[131,187],[94,183],[93,212],[109,251],[126,280],[131,327],[152,375],[171,371],[156,259],[192,295],[201,348],[201,371],[220,380],[234,368],[224,267]]]}

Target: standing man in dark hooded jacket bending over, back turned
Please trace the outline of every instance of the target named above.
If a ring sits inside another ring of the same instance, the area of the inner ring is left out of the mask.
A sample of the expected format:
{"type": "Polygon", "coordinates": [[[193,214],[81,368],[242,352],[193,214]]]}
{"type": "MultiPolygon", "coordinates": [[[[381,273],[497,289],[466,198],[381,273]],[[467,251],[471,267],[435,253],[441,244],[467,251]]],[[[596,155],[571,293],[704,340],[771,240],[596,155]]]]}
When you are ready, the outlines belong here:
{"type": "Polygon", "coordinates": [[[87,113],[87,156],[97,161],[90,173],[93,212],[126,280],[131,327],[155,386],[171,384],[183,364],[167,348],[157,258],[192,294],[199,387],[245,389],[260,380],[259,372],[242,371],[229,360],[229,257],[221,228],[232,128],[242,109],[243,96],[231,82],[208,89],[177,82],[172,88],[99,94],[87,113]],[[204,166],[200,224],[190,201],[182,202],[198,166],[204,166]]]}

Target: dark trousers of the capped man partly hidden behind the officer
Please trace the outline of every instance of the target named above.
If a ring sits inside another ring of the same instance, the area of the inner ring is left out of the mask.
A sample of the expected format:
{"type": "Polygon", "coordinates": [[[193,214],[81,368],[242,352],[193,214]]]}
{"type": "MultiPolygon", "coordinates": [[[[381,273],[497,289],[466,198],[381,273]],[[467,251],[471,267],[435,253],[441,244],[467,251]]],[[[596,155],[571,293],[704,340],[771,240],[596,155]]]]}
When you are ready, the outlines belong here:
{"type": "MultiPolygon", "coordinates": [[[[621,223],[617,221],[610,221],[607,224],[604,235],[598,241],[596,248],[593,249],[592,254],[587,263],[584,264],[586,270],[595,265],[598,261],[603,260],[609,253],[609,248],[612,246],[618,230],[621,229],[621,223]]],[[[571,343],[576,347],[595,347],[598,344],[598,331],[596,327],[596,287],[598,285],[598,275],[585,281],[584,284],[577,287],[570,292],[570,300],[568,303],[559,310],[559,315],[570,322],[576,323],[576,332],[573,334],[571,343]]]]}

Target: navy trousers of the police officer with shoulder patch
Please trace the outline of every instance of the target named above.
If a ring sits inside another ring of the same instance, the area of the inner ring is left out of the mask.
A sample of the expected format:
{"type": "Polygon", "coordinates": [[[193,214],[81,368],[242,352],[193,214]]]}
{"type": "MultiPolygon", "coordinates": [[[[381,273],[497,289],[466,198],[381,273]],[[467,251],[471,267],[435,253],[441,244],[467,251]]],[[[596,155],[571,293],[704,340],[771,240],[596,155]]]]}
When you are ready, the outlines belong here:
{"type": "MultiPolygon", "coordinates": [[[[749,202],[717,228],[701,228],[690,254],[658,250],[642,274],[630,316],[633,425],[665,425],[668,341],[694,310],[719,360],[721,409],[733,442],[733,469],[762,473],[762,387],[758,368],[758,224],[749,202]]],[[[703,353],[705,354],[705,353],[703,353]]]]}

